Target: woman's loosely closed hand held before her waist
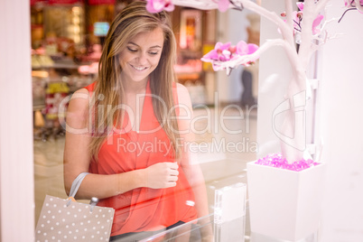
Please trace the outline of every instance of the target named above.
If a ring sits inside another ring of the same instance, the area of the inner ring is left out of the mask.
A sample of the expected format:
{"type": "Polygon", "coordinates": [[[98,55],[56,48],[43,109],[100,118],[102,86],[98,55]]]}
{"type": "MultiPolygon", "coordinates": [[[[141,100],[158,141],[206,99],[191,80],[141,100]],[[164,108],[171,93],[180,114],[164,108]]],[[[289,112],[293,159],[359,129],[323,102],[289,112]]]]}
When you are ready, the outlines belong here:
{"type": "Polygon", "coordinates": [[[155,163],[145,169],[145,187],[170,188],[178,181],[178,163],[155,163]]]}

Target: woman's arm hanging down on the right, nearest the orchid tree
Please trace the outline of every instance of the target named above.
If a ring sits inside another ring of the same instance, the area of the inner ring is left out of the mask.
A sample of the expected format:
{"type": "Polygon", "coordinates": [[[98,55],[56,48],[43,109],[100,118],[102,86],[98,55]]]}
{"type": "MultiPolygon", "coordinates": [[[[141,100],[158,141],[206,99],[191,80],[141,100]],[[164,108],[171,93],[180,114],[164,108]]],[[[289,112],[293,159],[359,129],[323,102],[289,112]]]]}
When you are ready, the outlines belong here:
{"type": "MultiPolygon", "coordinates": [[[[189,145],[195,142],[194,134],[191,127],[192,107],[191,107],[191,97],[189,95],[188,89],[181,84],[177,85],[178,99],[180,105],[180,115],[178,118],[178,126],[181,131],[181,147],[182,147],[182,158],[181,158],[181,168],[185,172],[188,181],[191,184],[191,188],[195,196],[195,208],[198,211],[198,218],[205,217],[209,215],[209,206],[207,191],[205,186],[205,181],[203,173],[200,170],[200,165],[198,163],[191,163],[190,160],[190,149],[189,145]],[[184,134],[185,133],[185,134],[184,134]]],[[[204,220],[199,220],[200,225],[208,224],[209,217],[204,220]]],[[[213,237],[213,232],[211,225],[204,227],[202,229],[203,241],[211,241],[213,237]]]]}

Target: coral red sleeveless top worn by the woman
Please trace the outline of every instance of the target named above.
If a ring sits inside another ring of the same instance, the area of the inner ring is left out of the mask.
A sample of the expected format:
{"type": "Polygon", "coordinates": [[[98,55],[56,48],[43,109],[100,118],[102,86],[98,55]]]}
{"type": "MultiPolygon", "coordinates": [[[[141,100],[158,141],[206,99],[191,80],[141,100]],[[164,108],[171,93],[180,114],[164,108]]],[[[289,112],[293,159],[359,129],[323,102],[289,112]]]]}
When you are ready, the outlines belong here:
{"type": "MultiPolygon", "coordinates": [[[[92,160],[89,172],[115,174],[144,169],[155,163],[174,162],[170,140],[154,116],[150,80],[147,82],[140,130],[131,130],[125,115],[121,132],[107,136],[98,153],[98,162],[92,160]]],[[[91,95],[97,82],[86,87],[91,95]]],[[[178,104],[176,85],[172,93],[178,104]]],[[[178,114],[178,111],[177,111],[178,114]]],[[[115,209],[111,236],[128,232],[156,231],[178,221],[197,219],[191,185],[179,166],[175,187],[167,189],[137,188],[115,197],[100,200],[98,206],[115,209]]]]}

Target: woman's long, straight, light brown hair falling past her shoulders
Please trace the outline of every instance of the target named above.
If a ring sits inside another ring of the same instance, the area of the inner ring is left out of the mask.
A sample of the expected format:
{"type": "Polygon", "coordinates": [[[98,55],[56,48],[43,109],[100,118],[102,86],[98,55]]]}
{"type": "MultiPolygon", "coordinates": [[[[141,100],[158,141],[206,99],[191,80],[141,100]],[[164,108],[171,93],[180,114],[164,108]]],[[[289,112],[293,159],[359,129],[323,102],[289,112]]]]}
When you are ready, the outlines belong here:
{"type": "Polygon", "coordinates": [[[122,70],[118,55],[126,48],[127,42],[138,33],[152,32],[156,28],[163,30],[164,42],[159,64],[149,77],[154,115],[171,141],[175,158],[181,157],[181,148],[177,144],[180,135],[175,132],[179,130],[178,124],[175,118],[168,118],[168,115],[175,116],[175,110],[172,108],[174,105],[172,82],[177,80],[173,70],[176,61],[176,42],[172,24],[165,12],[150,14],[145,9],[144,1],[136,1],[127,5],[111,23],[99,61],[98,83],[90,102],[92,139],[89,153],[96,161],[107,135],[115,124],[120,124],[121,120],[122,125],[124,120],[123,108],[117,108],[122,105],[125,93],[120,78],[122,70]]]}

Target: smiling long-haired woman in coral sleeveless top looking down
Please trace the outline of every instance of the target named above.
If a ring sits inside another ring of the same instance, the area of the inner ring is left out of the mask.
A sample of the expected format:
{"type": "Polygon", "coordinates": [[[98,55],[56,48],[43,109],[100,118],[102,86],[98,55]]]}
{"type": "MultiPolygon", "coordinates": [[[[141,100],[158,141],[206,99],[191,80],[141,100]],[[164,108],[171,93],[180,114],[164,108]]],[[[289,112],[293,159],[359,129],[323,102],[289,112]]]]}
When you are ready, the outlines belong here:
{"type": "Polygon", "coordinates": [[[191,101],[175,83],[175,51],[167,14],[133,2],[110,26],[98,81],[70,100],[65,188],[90,172],[78,198],[116,209],[111,239],[208,214],[200,169],[188,158],[191,101]]]}

